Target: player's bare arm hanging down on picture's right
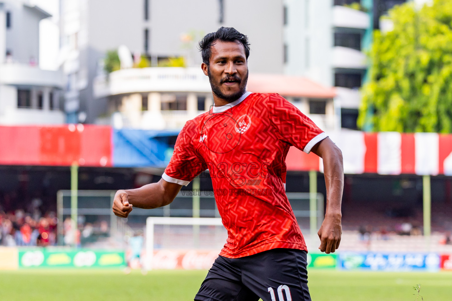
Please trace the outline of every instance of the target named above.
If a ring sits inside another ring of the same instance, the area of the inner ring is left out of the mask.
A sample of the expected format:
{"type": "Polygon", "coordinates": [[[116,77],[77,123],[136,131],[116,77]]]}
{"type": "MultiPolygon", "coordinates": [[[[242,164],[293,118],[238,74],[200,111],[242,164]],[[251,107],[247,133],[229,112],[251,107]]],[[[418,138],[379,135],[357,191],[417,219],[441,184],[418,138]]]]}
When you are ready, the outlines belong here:
{"type": "Polygon", "coordinates": [[[326,212],[325,219],[318,232],[320,237],[319,249],[326,254],[330,254],[330,252],[334,252],[339,248],[342,235],[341,201],[344,190],[342,152],[330,138],[325,138],[315,144],[311,151],[323,159],[326,212]]]}

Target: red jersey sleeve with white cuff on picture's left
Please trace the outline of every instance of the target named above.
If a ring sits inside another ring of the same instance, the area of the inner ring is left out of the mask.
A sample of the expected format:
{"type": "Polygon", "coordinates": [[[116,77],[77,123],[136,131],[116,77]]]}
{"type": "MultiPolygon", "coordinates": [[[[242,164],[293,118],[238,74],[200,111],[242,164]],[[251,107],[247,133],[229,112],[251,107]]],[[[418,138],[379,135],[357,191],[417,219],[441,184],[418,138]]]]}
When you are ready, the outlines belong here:
{"type": "Polygon", "coordinates": [[[162,175],[163,180],[187,186],[198,174],[207,169],[190,139],[195,135],[193,125],[188,121],[177,136],[173,156],[162,175]]]}

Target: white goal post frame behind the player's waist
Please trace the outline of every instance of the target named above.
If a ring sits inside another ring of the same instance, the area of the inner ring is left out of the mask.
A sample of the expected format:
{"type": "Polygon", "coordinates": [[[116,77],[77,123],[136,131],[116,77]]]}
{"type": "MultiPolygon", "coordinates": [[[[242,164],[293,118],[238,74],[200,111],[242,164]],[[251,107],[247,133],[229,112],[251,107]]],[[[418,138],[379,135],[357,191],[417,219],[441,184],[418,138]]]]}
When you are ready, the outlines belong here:
{"type": "MultiPolygon", "coordinates": [[[[153,268],[155,225],[222,226],[221,218],[146,218],[146,269],[153,268]]],[[[224,227],[223,227],[224,229],[224,227]]]]}

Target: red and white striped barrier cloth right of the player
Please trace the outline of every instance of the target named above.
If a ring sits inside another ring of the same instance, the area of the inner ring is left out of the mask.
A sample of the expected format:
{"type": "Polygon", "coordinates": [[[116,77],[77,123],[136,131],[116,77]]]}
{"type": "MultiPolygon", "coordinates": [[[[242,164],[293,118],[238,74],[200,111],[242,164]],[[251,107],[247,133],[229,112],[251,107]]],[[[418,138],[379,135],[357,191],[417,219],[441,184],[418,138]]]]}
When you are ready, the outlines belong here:
{"type": "MultiPolygon", "coordinates": [[[[330,139],[342,150],[346,174],[452,175],[452,134],[341,131],[330,139]]],[[[288,171],[323,170],[319,157],[294,147],[286,164],[288,171]]]]}

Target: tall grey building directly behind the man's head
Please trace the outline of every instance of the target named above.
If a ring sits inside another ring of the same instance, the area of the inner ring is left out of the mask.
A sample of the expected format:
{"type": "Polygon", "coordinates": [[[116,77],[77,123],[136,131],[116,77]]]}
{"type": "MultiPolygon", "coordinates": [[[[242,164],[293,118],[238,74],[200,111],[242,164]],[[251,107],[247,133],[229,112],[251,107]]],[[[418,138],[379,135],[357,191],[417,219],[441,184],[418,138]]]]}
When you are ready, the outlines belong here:
{"type": "MultiPolygon", "coordinates": [[[[60,9],[68,122],[93,123],[108,113],[110,101],[94,96],[93,83],[104,73],[106,51],[121,45],[136,57],[149,58],[152,66],[184,57],[185,66],[200,68],[199,39],[221,26],[233,26],[250,37],[251,71],[283,71],[282,0],[61,0],[60,9]]],[[[143,71],[148,72],[161,71],[143,71]]],[[[127,71],[115,76],[123,74],[127,71]]],[[[207,97],[210,88],[197,92],[207,97]]],[[[193,103],[197,107],[197,100],[193,103]]]]}

